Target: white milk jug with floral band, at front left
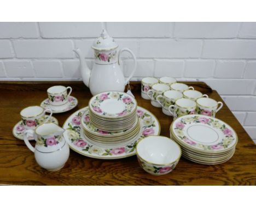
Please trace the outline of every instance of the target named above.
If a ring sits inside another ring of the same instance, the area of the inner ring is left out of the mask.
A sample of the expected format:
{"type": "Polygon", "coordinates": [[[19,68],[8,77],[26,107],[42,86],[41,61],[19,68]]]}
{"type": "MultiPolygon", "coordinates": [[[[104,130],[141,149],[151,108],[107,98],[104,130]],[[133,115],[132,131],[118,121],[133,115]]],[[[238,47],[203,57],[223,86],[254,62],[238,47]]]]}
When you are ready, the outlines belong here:
{"type": "Polygon", "coordinates": [[[69,157],[69,148],[60,126],[48,123],[37,127],[35,131],[26,130],[24,142],[34,152],[37,163],[42,168],[55,171],[63,168],[69,157]],[[35,148],[28,142],[28,134],[36,139],[35,148]]]}

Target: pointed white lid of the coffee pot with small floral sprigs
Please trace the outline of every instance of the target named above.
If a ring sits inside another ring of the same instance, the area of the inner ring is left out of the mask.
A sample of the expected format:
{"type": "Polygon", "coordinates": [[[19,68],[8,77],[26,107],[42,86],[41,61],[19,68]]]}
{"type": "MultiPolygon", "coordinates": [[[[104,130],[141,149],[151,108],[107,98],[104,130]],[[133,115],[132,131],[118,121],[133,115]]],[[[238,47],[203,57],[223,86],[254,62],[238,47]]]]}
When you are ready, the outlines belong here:
{"type": "Polygon", "coordinates": [[[103,29],[101,36],[94,40],[91,47],[98,51],[109,51],[117,48],[118,44],[108,35],[107,30],[103,29]]]}

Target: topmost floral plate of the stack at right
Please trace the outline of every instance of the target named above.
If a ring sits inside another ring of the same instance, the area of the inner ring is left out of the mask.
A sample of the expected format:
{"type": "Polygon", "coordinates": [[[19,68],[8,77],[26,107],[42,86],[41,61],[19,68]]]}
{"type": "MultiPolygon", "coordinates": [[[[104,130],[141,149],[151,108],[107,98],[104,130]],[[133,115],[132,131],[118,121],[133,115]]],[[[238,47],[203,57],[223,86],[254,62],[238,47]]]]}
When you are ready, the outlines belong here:
{"type": "Polygon", "coordinates": [[[207,115],[184,115],[171,125],[175,140],[201,152],[228,151],[237,143],[237,134],[224,121],[207,115]]]}

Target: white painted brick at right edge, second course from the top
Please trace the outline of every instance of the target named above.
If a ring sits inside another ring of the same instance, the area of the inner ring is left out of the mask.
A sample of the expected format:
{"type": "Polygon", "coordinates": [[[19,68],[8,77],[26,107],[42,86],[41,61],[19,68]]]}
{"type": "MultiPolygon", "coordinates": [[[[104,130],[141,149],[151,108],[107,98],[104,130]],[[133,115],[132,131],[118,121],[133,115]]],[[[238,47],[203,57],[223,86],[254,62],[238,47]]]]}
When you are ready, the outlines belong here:
{"type": "Polygon", "coordinates": [[[205,40],[203,58],[256,58],[256,40],[205,40]]]}

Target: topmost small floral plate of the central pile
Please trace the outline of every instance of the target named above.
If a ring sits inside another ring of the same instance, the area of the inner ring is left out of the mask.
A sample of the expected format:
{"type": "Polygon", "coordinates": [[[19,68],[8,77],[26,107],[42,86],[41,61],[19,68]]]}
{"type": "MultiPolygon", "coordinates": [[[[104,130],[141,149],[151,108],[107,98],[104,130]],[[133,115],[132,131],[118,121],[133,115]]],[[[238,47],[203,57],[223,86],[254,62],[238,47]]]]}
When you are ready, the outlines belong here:
{"type": "Polygon", "coordinates": [[[107,91],[95,95],[89,101],[92,113],[102,118],[122,118],[133,113],[137,107],[136,100],[124,92],[107,91]]]}

